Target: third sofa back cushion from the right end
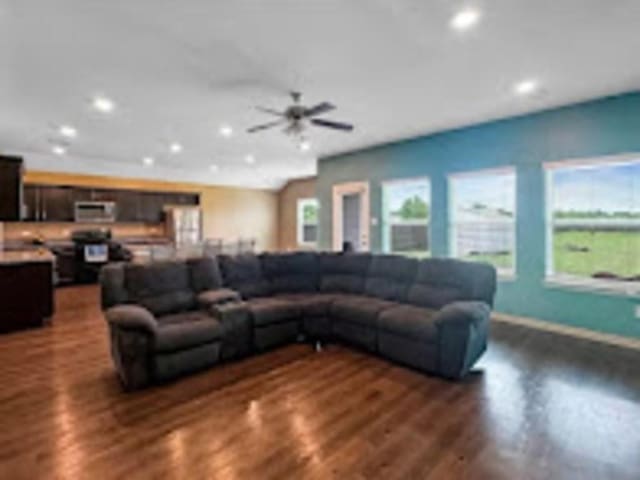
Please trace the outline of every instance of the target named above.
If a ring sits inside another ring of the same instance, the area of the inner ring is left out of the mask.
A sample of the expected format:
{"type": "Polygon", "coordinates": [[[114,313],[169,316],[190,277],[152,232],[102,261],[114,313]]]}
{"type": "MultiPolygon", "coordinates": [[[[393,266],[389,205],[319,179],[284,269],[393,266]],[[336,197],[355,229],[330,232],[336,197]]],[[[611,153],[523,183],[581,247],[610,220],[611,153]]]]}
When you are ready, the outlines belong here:
{"type": "Polygon", "coordinates": [[[364,292],[371,255],[368,253],[323,253],[320,263],[320,291],[359,294],[364,292]]]}

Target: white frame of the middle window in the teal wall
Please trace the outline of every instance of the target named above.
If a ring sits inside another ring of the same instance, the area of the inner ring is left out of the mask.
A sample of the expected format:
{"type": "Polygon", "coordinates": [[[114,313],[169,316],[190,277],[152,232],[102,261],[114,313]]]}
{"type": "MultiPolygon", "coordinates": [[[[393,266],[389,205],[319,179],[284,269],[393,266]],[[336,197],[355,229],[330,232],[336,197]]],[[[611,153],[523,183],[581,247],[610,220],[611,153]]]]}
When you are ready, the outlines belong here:
{"type": "Polygon", "coordinates": [[[509,268],[501,268],[495,266],[498,277],[502,280],[513,280],[516,278],[516,272],[518,268],[518,171],[515,165],[508,165],[497,168],[484,168],[480,170],[465,170],[461,172],[454,172],[447,175],[447,230],[448,230],[448,250],[449,256],[452,258],[460,259],[458,255],[457,245],[457,222],[456,216],[456,203],[455,203],[455,188],[454,182],[460,178],[473,178],[483,177],[490,175],[513,175],[513,220],[511,221],[512,230],[512,252],[513,258],[512,265],[509,268]]]}

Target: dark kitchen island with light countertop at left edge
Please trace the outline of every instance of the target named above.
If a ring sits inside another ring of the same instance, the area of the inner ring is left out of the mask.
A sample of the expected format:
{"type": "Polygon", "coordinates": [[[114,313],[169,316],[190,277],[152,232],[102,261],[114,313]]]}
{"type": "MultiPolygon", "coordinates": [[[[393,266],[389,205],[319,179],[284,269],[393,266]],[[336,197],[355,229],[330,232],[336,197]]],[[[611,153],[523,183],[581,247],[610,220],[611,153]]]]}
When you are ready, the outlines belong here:
{"type": "Polygon", "coordinates": [[[0,333],[45,324],[54,312],[48,250],[0,250],[0,333]]]}

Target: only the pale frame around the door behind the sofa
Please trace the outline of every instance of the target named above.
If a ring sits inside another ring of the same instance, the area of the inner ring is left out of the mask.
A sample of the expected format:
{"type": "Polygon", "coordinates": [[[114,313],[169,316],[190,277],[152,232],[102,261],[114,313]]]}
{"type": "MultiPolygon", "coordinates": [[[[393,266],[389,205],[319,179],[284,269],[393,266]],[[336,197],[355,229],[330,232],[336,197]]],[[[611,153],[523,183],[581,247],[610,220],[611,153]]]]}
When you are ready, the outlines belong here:
{"type": "Polygon", "coordinates": [[[332,205],[333,205],[333,229],[332,244],[335,251],[342,250],[343,231],[342,231],[342,200],[345,195],[360,195],[360,244],[357,251],[368,252],[371,248],[370,243],[370,199],[369,199],[369,182],[347,182],[339,183],[333,186],[332,205]]]}

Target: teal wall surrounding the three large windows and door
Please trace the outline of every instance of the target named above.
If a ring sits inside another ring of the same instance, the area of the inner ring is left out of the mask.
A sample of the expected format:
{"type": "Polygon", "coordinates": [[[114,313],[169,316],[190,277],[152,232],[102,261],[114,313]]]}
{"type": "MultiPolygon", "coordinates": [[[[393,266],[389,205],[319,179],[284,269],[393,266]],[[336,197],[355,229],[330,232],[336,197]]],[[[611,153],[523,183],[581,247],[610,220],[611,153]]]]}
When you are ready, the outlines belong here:
{"type": "MultiPolygon", "coordinates": [[[[390,121],[393,121],[390,118],[390,121]]],[[[371,215],[382,218],[381,182],[428,176],[431,180],[431,246],[448,255],[447,176],[514,166],[517,174],[517,266],[500,281],[496,310],[640,338],[634,316],[640,298],[550,287],[545,275],[545,175],[543,163],[640,152],[640,92],[450,130],[322,158],[318,161],[320,245],[331,248],[334,184],[369,181],[371,215]]],[[[371,247],[380,251],[380,222],[371,247]]]]}

